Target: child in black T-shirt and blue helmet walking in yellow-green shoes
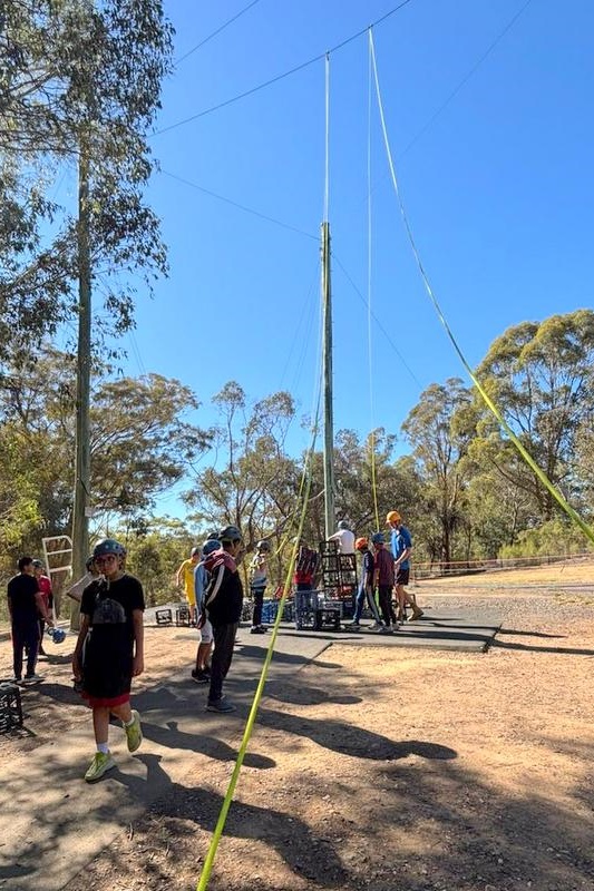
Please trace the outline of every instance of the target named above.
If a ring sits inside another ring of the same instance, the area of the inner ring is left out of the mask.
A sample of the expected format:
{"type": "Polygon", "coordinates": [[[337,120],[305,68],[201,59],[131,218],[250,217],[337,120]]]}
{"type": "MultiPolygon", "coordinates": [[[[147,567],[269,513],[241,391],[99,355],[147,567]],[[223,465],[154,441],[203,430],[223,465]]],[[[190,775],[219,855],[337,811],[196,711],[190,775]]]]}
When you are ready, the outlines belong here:
{"type": "Polygon", "coordinates": [[[86,774],[95,783],[116,766],[108,746],[109,715],[121,721],[128,752],[143,742],[140,715],[130,708],[133,677],[144,672],[145,598],[143,586],[124,571],[125,549],[113,538],[95,546],[92,558],[104,574],[91,581],[80,603],[80,631],[72,656],[75,678],[92,708],[97,752],[86,774]]]}

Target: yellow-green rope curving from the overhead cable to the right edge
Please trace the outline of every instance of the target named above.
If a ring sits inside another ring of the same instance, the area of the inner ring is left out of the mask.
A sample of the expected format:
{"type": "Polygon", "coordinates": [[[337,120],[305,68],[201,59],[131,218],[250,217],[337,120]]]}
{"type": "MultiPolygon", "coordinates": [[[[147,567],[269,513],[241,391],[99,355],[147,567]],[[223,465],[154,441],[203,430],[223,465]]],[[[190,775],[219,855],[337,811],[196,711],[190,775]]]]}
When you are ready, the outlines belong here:
{"type": "Polygon", "coordinates": [[[406,213],[406,209],[405,209],[405,205],[403,205],[402,198],[400,196],[400,189],[398,188],[398,179],[396,177],[396,170],[395,170],[395,165],[393,165],[393,160],[392,160],[392,153],[390,150],[390,143],[389,143],[389,139],[388,139],[388,131],[387,131],[387,128],[386,128],[386,118],[384,118],[384,115],[383,115],[383,104],[382,104],[382,100],[381,100],[381,91],[380,91],[380,85],[379,85],[379,78],[378,78],[378,67],[377,67],[377,63],[376,63],[376,49],[374,49],[374,46],[373,46],[373,33],[372,33],[371,29],[369,29],[369,52],[370,52],[370,57],[371,57],[371,63],[372,63],[372,67],[373,67],[373,77],[374,77],[374,81],[376,81],[376,96],[377,96],[377,99],[378,99],[378,108],[379,108],[379,112],[380,112],[381,129],[382,129],[382,134],[383,134],[383,144],[386,146],[386,154],[388,155],[388,164],[390,166],[390,175],[391,175],[391,178],[392,178],[392,185],[395,187],[396,197],[398,199],[398,204],[399,204],[399,207],[400,207],[400,214],[402,216],[402,221],[403,221],[403,224],[405,224],[407,236],[408,236],[408,239],[410,242],[410,246],[412,248],[412,253],[415,255],[415,260],[417,262],[417,266],[419,267],[419,272],[421,274],[422,282],[425,284],[425,290],[427,291],[427,294],[429,295],[429,298],[431,300],[431,303],[434,304],[434,307],[435,307],[435,310],[436,310],[436,312],[437,312],[437,314],[439,316],[439,321],[444,325],[444,329],[446,330],[446,333],[447,333],[449,340],[451,341],[451,344],[454,345],[454,349],[456,350],[456,352],[457,352],[457,354],[458,354],[458,356],[460,359],[460,362],[462,363],[464,368],[466,369],[466,371],[467,371],[470,380],[473,381],[474,385],[476,386],[476,389],[480,393],[480,395],[481,395],[485,404],[487,405],[487,408],[493,412],[493,414],[495,415],[495,418],[497,419],[497,421],[499,422],[502,428],[505,430],[505,432],[507,433],[507,435],[509,437],[509,439],[512,440],[512,442],[514,443],[514,446],[516,447],[516,449],[518,450],[518,452],[520,453],[523,459],[526,461],[526,463],[528,464],[530,470],[533,470],[534,473],[536,473],[537,478],[541,480],[543,486],[551,492],[551,495],[553,496],[555,501],[565,511],[565,513],[573,520],[573,522],[575,522],[575,525],[580,527],[580,529],[586,536],[586,538],[588,538],[591,541],[594,541],[594,531],[592,530],[592,528],[582,519],[582,517],[577,513],[577,511],[574,510],[574,508],[572,508],[572,506],[565,500],[565,498],[561,495],[561,492],[553,486],[553,483],[551,482],[551,480],[548,479],[546,473],[544,473],[544,471],[541,470],[541,468],[538,467],[538,464],[536,463],[536,461],[534,460],[532,454],[522,444],[519,439],[516,437],[516,434],[514,433],[514,431],[512,430],[512,428],[509,427],[509,424],[507,423],[507,421],[503,417],[503,414],[499,411],[499,409],[497,408],[497,405],[494,403],[494,401],[490,399],[489,394],[483,388],[480,381],[477,379],[477,376],[475,375],[475,373],[471,370],[470,365],[466,361],[466,358],[465,358],[462,351],[458,346],[458,343],[457,343],[454,334],[450,331],[450,327],[449,327],[449,325],[448,325],[448,323],[446,321],[446,317],[444,316],[444,313],[441,312],[441,307],[439,306],[439,303],[437,302],[437,298],[434,295],[434,292],[431,290],[431,285],[430,285],[429,280],[427,277],[427,273],[425,272],[423,265],[421,263],[421,258],[419,256],[419,252],[417,249],[417,245],[415,244],[415,238],[412,237],[412,232],[411,232],[411,228],[410,228],[410,225],[409,225],[409,222],[408,222],[408,217],[407,217],[407,213],[406,213]]]}

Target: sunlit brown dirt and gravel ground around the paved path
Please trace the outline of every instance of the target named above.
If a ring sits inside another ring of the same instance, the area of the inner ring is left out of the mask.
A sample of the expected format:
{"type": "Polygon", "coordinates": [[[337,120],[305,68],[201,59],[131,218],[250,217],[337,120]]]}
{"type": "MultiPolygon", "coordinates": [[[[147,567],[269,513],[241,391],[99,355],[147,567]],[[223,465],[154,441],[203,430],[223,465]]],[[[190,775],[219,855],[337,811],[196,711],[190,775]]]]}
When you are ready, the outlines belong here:
{"type": "MultiPolygon", "coordinates": [[[[593,574],[584,565],[572,581],[593,574]]],[[[542,572],[535,590],[503,574],[488,582],[417,588],[442,615],[498,609],[487,653],[339,643],[264,699],[257,766],[242,771],[211,889],[594,889],[594,589],[562,589],[542,572]]],[[[164,630],[147,630],[143,686],[192,660],[164,630]]],[[[57,659],[52,672],[68,675],[57,659]]],[[[0,737],[0,754],[27,757],[57,708],[50,697],[32,706],[39,735],[0,737]]],[[[88,721],[74,696],[59,714],[65,731],[88,721]]],[[[194,889],[232,768],[189,757],[185,783],[67,891],[194,889]]]]}

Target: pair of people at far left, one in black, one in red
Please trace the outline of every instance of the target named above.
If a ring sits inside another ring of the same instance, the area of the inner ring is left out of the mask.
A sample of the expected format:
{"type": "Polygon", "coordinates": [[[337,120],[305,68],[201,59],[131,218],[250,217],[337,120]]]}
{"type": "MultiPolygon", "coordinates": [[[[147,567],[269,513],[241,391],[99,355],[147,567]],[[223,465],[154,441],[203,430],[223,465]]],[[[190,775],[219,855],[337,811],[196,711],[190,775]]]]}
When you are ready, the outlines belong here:
{"type": "Polygon", "coordinates": [[[53,627],[53,598],[51,582],[43,572],[41,560],[21,557],[18,574],[8,582],[8,610],[12,637],[12,667],[14,683],[40,681],[37,660],[45,656],[43,631],[46,625],[53,627]],[[25,677],[23,660],[27,658],[25,677]]]}

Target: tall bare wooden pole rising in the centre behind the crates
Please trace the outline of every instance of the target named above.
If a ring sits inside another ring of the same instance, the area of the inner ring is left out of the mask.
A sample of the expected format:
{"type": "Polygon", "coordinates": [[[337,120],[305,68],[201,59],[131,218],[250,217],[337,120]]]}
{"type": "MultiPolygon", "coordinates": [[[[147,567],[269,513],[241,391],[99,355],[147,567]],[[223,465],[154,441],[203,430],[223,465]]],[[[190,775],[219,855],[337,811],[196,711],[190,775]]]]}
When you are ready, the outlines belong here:
{"type": "Polygon", "coordinates": [[[322,304],[324,319],[324,508],[325,537],[334,532],[334,413],[332,408],[332,295],[330,290],[330,224],[322,223],[322,304]]]}

